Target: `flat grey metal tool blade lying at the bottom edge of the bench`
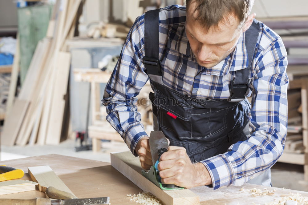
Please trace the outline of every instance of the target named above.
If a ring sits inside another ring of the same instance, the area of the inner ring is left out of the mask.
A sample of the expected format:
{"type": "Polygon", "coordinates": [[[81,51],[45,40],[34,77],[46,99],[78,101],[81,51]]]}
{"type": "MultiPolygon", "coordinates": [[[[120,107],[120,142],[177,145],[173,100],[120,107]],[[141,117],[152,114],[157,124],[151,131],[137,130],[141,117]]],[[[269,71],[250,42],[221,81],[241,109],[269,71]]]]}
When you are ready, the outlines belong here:
{"type": "Polygon", "coordinates": [[[109,197],[85,198],[85,199],[57,199],[51,200],[51,205],[83,205],[83,204],[109,204],[109,197]]]}

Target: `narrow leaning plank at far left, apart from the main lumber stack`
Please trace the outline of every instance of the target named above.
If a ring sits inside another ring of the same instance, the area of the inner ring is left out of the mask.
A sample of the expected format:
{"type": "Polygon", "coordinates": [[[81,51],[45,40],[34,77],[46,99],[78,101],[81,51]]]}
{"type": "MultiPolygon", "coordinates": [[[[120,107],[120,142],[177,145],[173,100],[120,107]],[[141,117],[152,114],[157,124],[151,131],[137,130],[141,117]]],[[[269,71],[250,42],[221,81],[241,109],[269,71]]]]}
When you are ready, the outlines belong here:
{"type": "Polygon", "coordinates": [[[10,112],[11,107],[13,106],[14,99],[15,99],[15,91],[16,91],[16,85],[17,85],[18,73],[19,73],[19,62],[20,62],[20,50],[19,50],[19,37],[17,33],[16,52],[15,52],[14,60],[13,60],[9,97],[7,98],[7,102],[6,102],[6,113],[10,112]]]}

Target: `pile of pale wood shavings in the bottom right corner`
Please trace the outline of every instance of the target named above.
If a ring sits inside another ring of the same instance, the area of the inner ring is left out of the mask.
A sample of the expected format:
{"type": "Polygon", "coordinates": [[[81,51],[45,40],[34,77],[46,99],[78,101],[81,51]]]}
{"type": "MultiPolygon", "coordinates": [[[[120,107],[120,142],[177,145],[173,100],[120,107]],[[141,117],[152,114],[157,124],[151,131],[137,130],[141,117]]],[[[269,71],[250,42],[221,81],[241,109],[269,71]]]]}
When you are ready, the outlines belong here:
{"type": "Polygon", "coordinates": [[[268,203],[266,205],[288,205],[288,204],[298,204],[298,205],[308,204],[308,197],[302,196],[298,193],[297,194],[290,193],[289,196],[275,199],[274,202],[268,203]]]}

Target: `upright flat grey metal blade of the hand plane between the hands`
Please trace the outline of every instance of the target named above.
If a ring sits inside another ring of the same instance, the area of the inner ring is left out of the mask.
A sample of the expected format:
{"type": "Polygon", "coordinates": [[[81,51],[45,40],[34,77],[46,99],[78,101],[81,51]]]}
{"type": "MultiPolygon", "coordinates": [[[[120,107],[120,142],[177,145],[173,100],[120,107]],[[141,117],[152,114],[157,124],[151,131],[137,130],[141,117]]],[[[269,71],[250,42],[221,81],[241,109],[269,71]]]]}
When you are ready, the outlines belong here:
{"type": "Polygon", "coordinates": [[[160,148],[168,149],[168,140],[162,131],[151,131],[149,144],[152,155],[152,162],[154,165],[159,159],[158,151],[160,148]]]}

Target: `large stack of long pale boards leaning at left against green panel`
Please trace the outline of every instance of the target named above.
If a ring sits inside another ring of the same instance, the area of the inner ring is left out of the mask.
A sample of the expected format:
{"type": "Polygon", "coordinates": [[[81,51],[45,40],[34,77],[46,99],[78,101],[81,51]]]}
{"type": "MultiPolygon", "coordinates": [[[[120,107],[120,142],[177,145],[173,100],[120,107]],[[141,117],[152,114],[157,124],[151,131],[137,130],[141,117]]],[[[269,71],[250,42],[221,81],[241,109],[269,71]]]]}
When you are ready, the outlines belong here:
{"type": "Polygon", "coordinates": [[[46,37],[37,45],[18,97],[6,115],[3,145],[59,144],[65,137],[67,85],[73,37],[81,0],[57,0],[46,37]]]}

